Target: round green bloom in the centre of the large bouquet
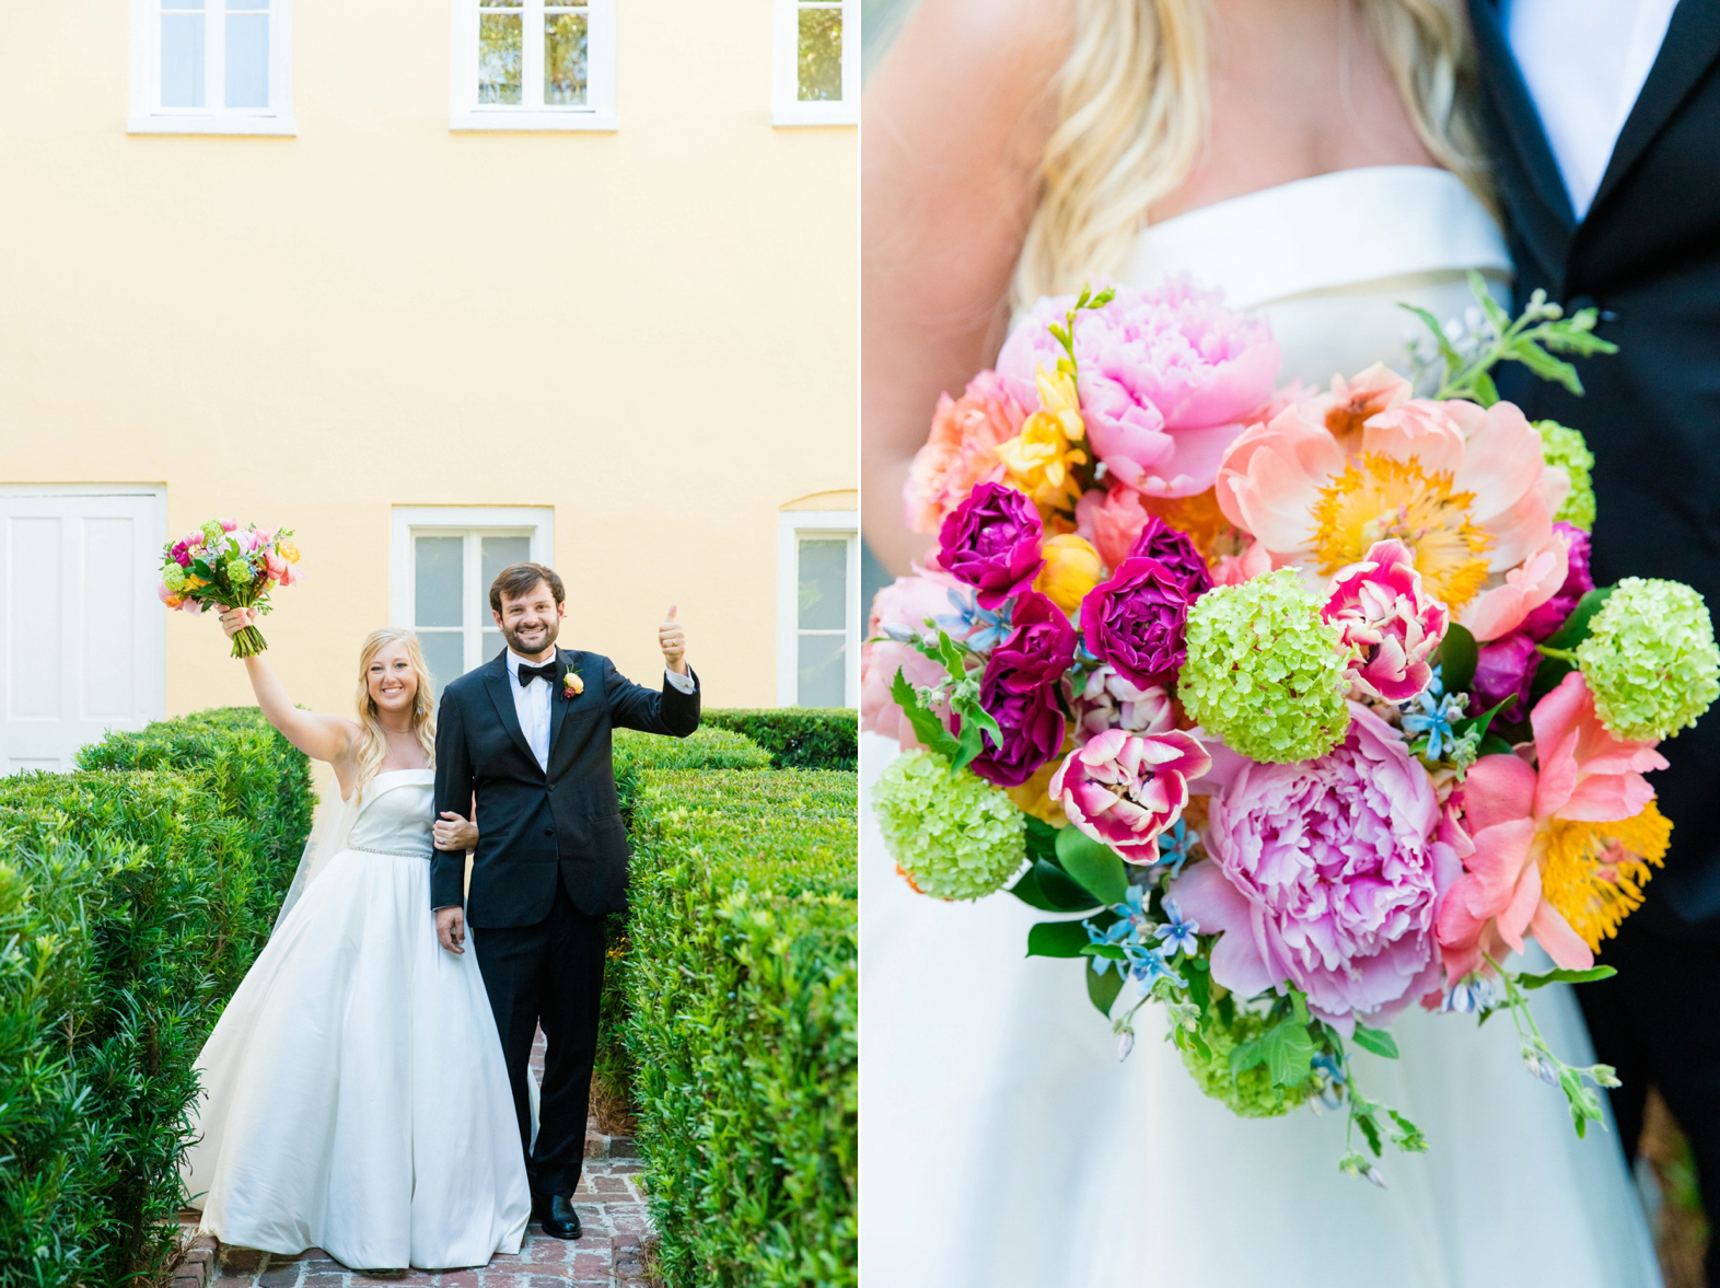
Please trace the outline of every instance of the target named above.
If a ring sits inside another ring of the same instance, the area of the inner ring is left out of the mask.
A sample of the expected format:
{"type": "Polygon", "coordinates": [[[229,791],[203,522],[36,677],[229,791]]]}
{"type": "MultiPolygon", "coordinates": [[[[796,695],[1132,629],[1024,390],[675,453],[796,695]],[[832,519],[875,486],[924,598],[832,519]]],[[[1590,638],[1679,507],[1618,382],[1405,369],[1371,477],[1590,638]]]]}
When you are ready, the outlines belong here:
{"type": "Polygon", "coordinates": [[[1338,631],[1288,567],[1218,586],[1189,609],[1176,696],[1201,727],[1252,760],[1324,755],[1350,727],[1338,631]]]}

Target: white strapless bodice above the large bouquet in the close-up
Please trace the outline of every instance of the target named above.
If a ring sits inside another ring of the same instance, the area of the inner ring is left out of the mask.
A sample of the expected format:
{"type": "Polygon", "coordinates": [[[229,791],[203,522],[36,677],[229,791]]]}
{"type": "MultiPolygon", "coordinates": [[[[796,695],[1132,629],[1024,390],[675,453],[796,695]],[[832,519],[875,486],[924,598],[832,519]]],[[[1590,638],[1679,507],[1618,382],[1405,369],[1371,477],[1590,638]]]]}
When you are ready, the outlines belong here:
{"type": "Polygon", "coordinates": [[[1484,205],[1450,170],[1369,165],[1190,210],[1140,232],[1120,279],[1189,273],[1225,303],[1264,313],[1280,383],[1324,387],[1383,361],[1404,370],[1404,303],[1441,322],[1474,306],[1469,270],[1505,301],[1510,256],[1484,205]]]}

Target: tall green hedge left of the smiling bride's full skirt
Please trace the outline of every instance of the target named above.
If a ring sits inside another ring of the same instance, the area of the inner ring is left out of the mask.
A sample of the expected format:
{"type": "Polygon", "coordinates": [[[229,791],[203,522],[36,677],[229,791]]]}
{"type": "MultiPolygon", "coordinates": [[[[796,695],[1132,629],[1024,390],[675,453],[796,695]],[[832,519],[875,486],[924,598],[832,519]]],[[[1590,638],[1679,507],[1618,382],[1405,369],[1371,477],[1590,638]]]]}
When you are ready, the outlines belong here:
{"type": "Polygon", "coordinates": [[[193,1061],[313,810],[256,712],[0,779],[0,1288],[150,1283],[177,1245],[193,1061]]]}

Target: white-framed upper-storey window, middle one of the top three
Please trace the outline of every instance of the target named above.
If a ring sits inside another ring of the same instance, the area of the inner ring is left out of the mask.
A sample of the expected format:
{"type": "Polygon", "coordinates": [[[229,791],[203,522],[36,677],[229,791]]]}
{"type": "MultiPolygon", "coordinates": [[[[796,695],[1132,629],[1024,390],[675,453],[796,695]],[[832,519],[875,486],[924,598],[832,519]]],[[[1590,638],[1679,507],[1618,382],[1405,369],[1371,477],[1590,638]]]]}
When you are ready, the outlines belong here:
{"type": "Polygon", "coordinates": [[[616,0],[452,0],[449,129],[617,129],[616,0]]]}

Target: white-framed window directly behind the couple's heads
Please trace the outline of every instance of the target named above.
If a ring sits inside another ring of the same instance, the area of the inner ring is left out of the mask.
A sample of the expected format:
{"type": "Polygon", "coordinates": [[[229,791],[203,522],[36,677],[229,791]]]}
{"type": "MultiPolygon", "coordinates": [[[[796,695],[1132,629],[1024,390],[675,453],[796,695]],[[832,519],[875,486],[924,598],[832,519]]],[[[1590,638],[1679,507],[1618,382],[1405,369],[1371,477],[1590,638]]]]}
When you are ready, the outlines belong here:
{"type": "Polygon", "coordinates": [[[411,626],[435,676],[451,679],[502,650],[490,583],[509,564],[547,564],[556,549],[547,506],[396,506],[389,621],[411,626]]]}

